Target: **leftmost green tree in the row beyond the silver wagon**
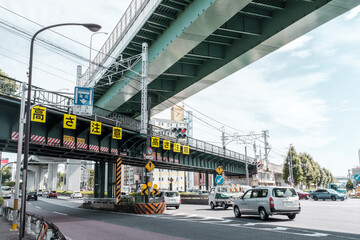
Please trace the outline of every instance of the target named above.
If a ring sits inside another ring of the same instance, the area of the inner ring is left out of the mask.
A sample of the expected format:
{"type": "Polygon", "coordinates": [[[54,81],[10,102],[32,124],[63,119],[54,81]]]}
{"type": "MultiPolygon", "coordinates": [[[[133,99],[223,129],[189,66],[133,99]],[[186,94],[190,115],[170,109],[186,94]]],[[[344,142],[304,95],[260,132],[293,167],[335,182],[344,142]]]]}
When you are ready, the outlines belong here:
{"type": "Polygon", "coordinates": [[[303,179],[303,171],[301,168],[301,160],[300,160],[299,156],[297,155],[294,146],[292,146],[289,149],[286,159],[284,161],[284,167],[283,167],[282,178],[288,184],[290,184],[289,179],[288,179],[289,178],[289,163],[290,163],[290,161],[292,162],[292,166],[293,166],[294,185],[298,185],[303,179]]]}

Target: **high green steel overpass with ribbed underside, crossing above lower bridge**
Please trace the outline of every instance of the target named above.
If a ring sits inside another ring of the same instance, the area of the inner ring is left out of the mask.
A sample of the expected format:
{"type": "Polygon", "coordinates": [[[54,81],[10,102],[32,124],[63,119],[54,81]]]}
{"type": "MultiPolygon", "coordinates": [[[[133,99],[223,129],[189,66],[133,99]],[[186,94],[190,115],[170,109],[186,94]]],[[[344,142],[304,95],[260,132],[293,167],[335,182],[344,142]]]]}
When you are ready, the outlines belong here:
{"type": "Polygon", "coordinates": [[[94,87],[98,107],[129,117],[139,116],[141,81],[135,73],[141,72],[141,61],[136,61],[136,56],[146,42],[148,89],[152,114],[156,114],[359,3],[360,0],[133,0],[92,60],[82,82],[94,87]]]}

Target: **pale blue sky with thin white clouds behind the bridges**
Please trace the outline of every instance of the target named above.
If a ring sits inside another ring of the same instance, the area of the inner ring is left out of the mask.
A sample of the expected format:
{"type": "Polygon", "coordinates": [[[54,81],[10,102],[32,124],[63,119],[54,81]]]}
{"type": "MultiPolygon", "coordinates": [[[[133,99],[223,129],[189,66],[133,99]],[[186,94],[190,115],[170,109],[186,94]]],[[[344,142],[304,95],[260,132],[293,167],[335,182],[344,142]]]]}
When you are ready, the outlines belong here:
{"type": "MultiPolygon", "coordinates": [[[[129,0],[122,0],[121,4],[110,0],[101,3],[65,0],[36,1],[35,4],[25,0],[0,0],[0,6],[42,25],[95,22],[101,24],[105,32],[112,31],[129,3],[129,0]]],[[[186,110],[191,110],[190,106],[238,129],[240,134],[269,130],[272,162],[282,163],[282,155],[286,154],[289,144],[293,144],[298,152],[309,153],[334,175],[346,175],[349,168],[359,163],[359,9],[324,24],[190,97],[185,100],[186,110]]],[[[0,21],[15,24],[32,34],[40,28],[3,8],[0,16],[0,21]]],[[[91,33],[86,29],[59,28],[57,31],[89,45],[91,33]]],[[[0,35],[0,68],[12,77],[26,80],[30,42],[3,28],[0,35]]],[[[89,56],[88,48],[54,33],[47,32],[41,37],[85,58],[89,56]]],[[[105,40],[106,35],[95,36],[94,48],[99,49],[105,40]]],[[[35,67],[52,75],[35,70],[34,85],[51,90],[72,89],[76,65],[83,65],[84,71],[87,67],[86,62],[69,60],[41,47],[36,48],[35,60],[35,67]]],[[[222,124],[193,112],[197,116],[194,137],[220,144],[220,131],[204,126],[198,118],[215,128],[222,124]]],[[[165,111],[157,117],[169,118],[170,114],[165,111]]],[[[225,129],[229,134],[236,132],[225,129]]],[[[229,148],[243,152],[244,146],[230,144],[229,148]]],[[[9,154],[5,156],[13,158],[9,154]]]]}

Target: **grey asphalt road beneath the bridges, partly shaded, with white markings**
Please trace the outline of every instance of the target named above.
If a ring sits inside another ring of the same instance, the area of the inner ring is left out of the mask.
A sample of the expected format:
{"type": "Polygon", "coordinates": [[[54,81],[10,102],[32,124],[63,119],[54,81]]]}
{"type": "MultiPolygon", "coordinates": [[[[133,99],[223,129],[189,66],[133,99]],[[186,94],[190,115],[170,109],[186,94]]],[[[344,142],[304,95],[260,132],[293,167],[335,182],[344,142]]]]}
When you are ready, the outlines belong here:
{"type": "Polygon", "coordinates": [[[234,217],[232,208],[203,205],[169,208],[162,215],[136,215],[78,208],[81,200],[31,201],[28,211],[55,223],[73,240],[82,239],[360,239],[360,200],[301,201],[295,220],[284,216],[263,222],[234,217]]]}

